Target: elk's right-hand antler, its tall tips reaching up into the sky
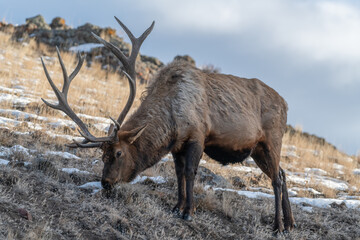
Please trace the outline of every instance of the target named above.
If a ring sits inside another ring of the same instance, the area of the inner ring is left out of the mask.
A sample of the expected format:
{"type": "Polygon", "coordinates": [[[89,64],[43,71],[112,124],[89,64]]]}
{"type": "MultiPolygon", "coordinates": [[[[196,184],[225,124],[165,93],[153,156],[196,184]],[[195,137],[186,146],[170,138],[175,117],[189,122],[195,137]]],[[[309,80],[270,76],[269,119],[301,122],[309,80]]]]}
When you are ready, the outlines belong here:
{"type": "Polygon", "coordinates": [[[127,76],[128,81],[129,81],[130,95],[129,95],[129,98],[126,102],[124,109],[122,110],[122,112],[120,113],[120,115],[117,119],[117,122],[119,123],[119,125],[121,125],[123,123],[127,113],[129,112],[131,105],[134,102],[134,98],[135,98],[135,94],[136,94],[136,82],[135,82],[136,81],[136,72],[135,72],[136,57],[139,54],[141,44],[144,42],[146,37],[150,34],[152,29],[154,28],[155,22],[153,21],[151,26],[148,29],[146,29],[146,31],[139,38],[135,38],[134,35],[131,33],[131,31],[125,26],[125,24],[123,24],[117,17],[115,17],[115,19],[130,38],[130,41],[132,43],[132,50],[131,50],[130,56],[128,56],[128,57],[125,56],[124,53],[118,47],[116,47],[114,44],[112,44],[110,42],[105,41],[101,37],[97,36],[95,33],[92,32],[92,35],[100,43],[104,44],[104,46],[106,48],[108,48],[120,60],[120,62],[123,64],[124,69],[125,69],[124,73],[127,76]]]}

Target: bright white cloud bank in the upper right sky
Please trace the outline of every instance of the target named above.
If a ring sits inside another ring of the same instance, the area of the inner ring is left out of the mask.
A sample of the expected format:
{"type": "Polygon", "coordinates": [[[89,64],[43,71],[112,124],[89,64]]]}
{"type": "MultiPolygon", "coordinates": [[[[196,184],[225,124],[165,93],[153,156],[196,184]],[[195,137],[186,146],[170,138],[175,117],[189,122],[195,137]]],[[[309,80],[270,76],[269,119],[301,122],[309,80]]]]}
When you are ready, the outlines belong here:
{"type": "Polygon", "coordinates": [[[338,69],[329,79],[334,87],[360,85],[360,9],[350,2],[155,0],[139,7],[169,33],[251,38],[258,50],[338,69]]]}

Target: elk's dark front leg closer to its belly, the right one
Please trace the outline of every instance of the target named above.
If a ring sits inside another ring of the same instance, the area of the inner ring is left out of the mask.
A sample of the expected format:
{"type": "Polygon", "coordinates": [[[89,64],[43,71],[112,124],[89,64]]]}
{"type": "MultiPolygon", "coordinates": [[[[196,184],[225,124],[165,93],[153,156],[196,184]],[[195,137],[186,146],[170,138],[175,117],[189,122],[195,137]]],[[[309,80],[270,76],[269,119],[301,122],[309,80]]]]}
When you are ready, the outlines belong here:
{"type": "Polygon", "coordinates": [[[185,181],[186,181],[186,202],[183,212],[183,219],[190,221],[194,214],[193,189],[195,175],[199,166],[203,147],[198,142],[189,142],[185,148],[185,181]]]}

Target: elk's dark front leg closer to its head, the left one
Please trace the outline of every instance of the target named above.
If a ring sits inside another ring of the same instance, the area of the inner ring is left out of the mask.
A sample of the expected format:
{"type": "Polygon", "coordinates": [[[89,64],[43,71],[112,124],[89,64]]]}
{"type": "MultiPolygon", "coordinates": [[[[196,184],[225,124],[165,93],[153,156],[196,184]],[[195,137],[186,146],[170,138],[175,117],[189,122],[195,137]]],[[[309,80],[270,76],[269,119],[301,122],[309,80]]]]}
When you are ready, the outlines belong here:
{"type": "Polygon", "coordinates": [[[185,206],[185,156],[183,153],[173,154],[175,172],[178,182],[178,202],[173,208],[173,213],[180,214],[185,206]]]}

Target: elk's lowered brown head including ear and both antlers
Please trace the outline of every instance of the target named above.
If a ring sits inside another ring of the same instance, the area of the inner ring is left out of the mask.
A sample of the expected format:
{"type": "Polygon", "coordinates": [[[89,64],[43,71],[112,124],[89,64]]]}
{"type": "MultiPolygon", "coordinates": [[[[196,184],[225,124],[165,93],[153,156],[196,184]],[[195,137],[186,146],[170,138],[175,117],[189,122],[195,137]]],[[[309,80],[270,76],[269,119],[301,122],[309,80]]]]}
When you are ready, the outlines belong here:
{"type": "Polygon", "coordinates": [[[132,50],[129,56],[125,56],[123,52],[112,43],[105,41],[104,39],[98,37],[94,33],[92,35],[106,48],[108,48],[122,63],[124,71],[123,73],[128,79],[130,85],[130,95],[127,100],[127,103],[120,113],[117,120],[110,118],[113,124],[110,125],[108,136],[106,137],[95,137],[88,130],[87,126],[81,121],[81,119],[74,113],[70,108],[67,101],[67,94],[69,91],[69,86],[71,81],[74,79],[76,74],[80,71],[81,66],[84,62],[85,57],[78,54],[79,62],[75,70],[68,76],[64,63],[61,59],[59,49],[56,48],[61,69],[64,76],[64,85],[63,89],[60,92],[59,89],[55,86],[54,82],[51,80],[50,75],[46,69],[43,59],[41,62],[44,68],[45,75],[55,92],[55,95],[59,101],[57,105],[51,104],[46,100],[42,99],[43,102],[51,108],[60,110],[68,115],[80,128],[79,133],[84,137],[82,142],[73,141],[72,144],[68,144],[68,147],[71,148],[100,148],[103,151],[102,160],[104,162],[103,176],[101,183],[105,189],[110,189],[115,183],[124,181],[131,181],[137,174],[137,166],[134,163],[134,159],[137,157],[137,150],[134,146],[134,142],[139,138],[146,128],[141,126],[139,128],[132,129],[130,131],[120,130],[121,124],[123,123],[127,113],[130,110],[131,105],[134,102],[135,93],[136,93],[136,72],[135,72],[135,61],[139,53],[141,44],[146,39],[146,37],[152,31],[155,22],[139,37],[135,38],[130,30],[118,19],[116,21],[124,29],[126,34],[129,36],[132,43],[132,50]]]}

